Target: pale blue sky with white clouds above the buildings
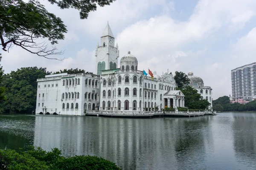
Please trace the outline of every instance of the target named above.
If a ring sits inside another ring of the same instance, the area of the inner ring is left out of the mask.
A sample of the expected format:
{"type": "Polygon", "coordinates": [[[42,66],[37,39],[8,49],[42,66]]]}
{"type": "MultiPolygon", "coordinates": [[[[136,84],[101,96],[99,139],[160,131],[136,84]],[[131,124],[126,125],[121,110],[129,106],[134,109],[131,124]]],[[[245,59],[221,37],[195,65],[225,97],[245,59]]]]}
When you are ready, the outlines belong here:
{"type": "MultiPolygon", "coordinates": [[[[131,51],[138,69],[172,73],[193,71],[212,87],[212,99],[232,94],[231,70],[256,62],[256,0],[116,0],[98,7],[87,20],[76,9],[61,10],[46,0],[49,12],[67,26],[62,61],[30,54],[20,47],[0,50],[5,73],[21,67],[95,70],[97,42],[109,23],[119,47],[119,61],[131,51]]],[[[119,63],[118,63],[119,67],[119,63]]]]}

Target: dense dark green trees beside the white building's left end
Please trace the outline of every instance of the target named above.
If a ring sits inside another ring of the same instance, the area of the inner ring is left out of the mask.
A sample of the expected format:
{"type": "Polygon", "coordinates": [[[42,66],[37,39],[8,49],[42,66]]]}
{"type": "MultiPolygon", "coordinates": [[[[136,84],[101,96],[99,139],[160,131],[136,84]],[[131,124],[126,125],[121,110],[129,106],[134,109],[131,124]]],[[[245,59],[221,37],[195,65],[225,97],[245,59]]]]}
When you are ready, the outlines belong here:
{"type": "Polygon", "coordinates": [[[10,113],[31,112],[36,105],[37,79],[50,74],[46,68],[26,67],[4,74],[3,87],[6,88],[6,101],[0,108],[10,113]]]}

